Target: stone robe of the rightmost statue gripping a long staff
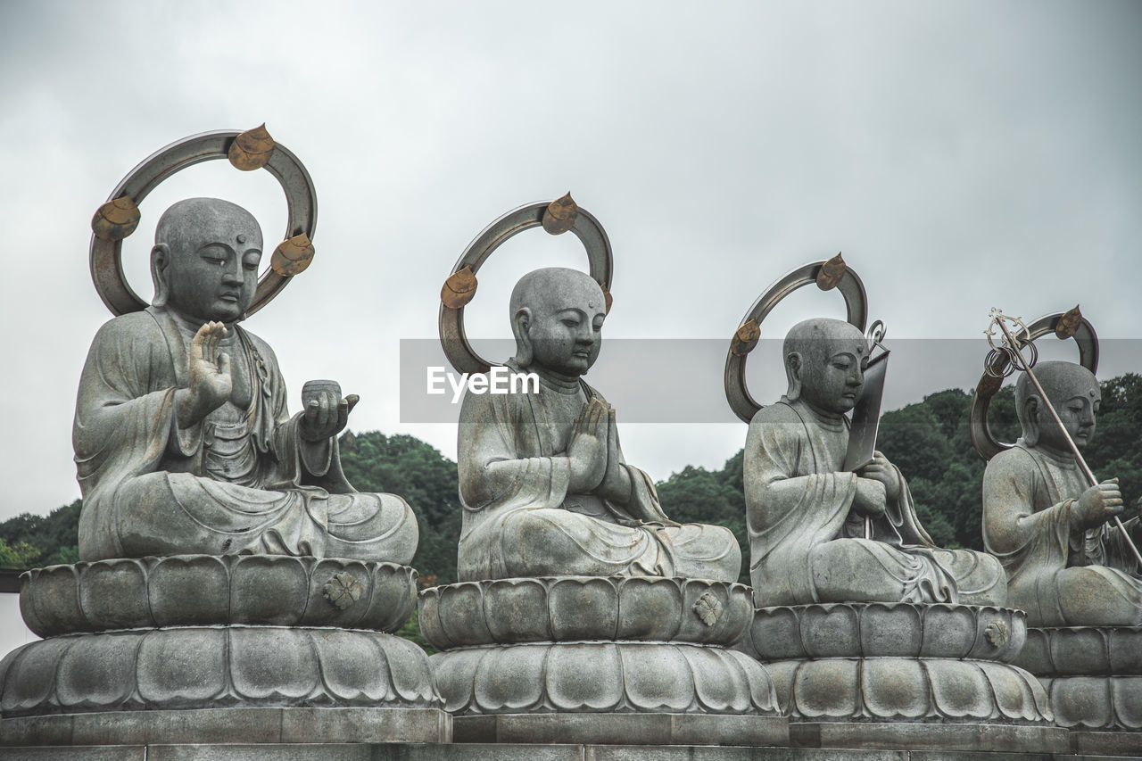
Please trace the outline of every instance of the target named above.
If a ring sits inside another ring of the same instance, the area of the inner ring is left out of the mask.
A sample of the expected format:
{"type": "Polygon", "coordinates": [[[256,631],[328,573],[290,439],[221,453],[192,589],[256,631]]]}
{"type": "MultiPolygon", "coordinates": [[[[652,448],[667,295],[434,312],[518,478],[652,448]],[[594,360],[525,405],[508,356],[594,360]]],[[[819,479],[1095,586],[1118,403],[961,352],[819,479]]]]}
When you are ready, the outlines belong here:
{"type": "MultiPolygon", "coordinates": [[[[1020,439],[983,474],[983,544],[1007,571],[1013,608],[1029,626],[1142,626],[1142,577],[1111,523],[1075,514],[1086,478],[1070,455],[1020,439]]],[[[1139,519],[1124,521],[1137,542],[1139,519]]]]}

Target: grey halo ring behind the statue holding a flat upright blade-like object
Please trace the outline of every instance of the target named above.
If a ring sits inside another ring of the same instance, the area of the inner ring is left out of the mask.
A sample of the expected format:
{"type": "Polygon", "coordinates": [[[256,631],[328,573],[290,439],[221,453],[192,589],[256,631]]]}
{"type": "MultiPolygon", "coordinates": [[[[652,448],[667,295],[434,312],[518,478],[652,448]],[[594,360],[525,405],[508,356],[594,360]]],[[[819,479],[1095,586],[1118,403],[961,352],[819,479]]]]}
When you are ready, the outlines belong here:
{"type": "MultiPolygon", "coordinates": [[[[798,288],[817,283],[817,275],[825,264],[825,262],[806,264],[774,282],[749,307],[746,317],[741,319],[741,325],[753,320],[761,328],[762,321],[781,299],[798,288]]],[[[836,289],[845,297],[849,323],[864,333],[864,323],[868,321],[868,296],[864,293],[864,283],[861,282],[860,277],[852,267],[845,266],[836,289]]],[[[733,349],[734,344],[731,341],[730,350],[725,355],[725,398],[734,414],[749,423],[754,419],[754,415],[762,409],[762,404],[754,400],[746,386],[746,358],[749,357],[749,353],[735,354],[733,349]]]]}

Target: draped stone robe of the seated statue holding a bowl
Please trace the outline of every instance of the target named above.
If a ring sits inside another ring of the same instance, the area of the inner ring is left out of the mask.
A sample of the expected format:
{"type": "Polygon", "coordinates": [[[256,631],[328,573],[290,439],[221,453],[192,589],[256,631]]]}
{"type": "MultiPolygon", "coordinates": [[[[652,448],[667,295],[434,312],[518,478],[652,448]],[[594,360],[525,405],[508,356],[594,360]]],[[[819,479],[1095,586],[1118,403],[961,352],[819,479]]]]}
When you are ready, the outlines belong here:
{"type": "Polygon", "coordinates": [[[222,341],[250,382],[232,402],[182,427],[196,327],[164,309],[118,317],[96,334],[80,380],[72,440],[83,510],[83,560],[171,554],[290,554],[408,563],[416,516],[400,497],[357,492],[336,436],[312,443],[289,416],[270,346],[233,326],[222,341]],[[240,365],[241,363],[241,365],[240,365]]]}

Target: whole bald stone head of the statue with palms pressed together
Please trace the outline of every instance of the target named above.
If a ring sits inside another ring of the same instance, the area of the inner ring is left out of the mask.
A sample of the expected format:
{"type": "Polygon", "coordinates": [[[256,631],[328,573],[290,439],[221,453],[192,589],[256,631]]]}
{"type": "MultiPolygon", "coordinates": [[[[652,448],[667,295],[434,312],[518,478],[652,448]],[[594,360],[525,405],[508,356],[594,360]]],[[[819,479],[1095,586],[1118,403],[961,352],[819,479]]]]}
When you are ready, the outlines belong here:
{"type": "Polygon", "coordinates": [[[598,359],[606,302],[590,275],[566,267],[529,272],[512,289],[510,310],[522,368],[578,378],[598,359]]]}

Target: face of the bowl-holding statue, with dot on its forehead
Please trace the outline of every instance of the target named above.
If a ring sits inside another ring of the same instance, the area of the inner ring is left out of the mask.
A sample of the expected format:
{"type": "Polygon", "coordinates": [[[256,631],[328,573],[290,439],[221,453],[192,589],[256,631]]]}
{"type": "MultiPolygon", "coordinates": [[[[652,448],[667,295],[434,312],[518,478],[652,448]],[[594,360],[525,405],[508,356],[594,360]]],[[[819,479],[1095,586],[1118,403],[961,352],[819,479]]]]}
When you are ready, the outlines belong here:
{"type": "Polygon", "coordinates": [[[262,230],[248,214],[198,215],[171,240],[168,305],[207,322],[233,322],[254,303],[262,230]]]}

